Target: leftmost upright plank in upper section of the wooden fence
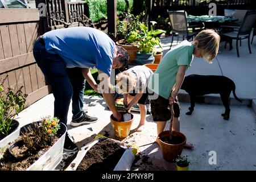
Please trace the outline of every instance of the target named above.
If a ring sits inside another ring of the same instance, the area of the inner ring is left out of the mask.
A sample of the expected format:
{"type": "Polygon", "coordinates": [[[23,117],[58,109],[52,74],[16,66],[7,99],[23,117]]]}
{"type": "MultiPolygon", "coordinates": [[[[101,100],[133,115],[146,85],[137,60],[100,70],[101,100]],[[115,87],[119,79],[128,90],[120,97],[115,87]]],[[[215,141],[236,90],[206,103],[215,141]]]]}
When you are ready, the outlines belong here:
{"type": "Polygon", "coordinates": [[[11,40],[10,40],[8,26],[7,25],[0,26],[0,32],[2,36],[3,53],[5,56],[5,59],[8,57],[12,57],[13,53],[11,52],[11,40]]]}

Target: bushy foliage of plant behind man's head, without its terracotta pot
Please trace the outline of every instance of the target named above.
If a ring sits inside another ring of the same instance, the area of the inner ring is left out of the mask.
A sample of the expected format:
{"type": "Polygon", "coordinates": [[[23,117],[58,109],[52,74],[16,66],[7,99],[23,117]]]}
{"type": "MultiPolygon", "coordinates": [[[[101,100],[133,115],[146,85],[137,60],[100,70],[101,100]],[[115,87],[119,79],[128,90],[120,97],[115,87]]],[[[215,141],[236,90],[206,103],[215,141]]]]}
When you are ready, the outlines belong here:
{"type": "Polygon", "coordinates": [[[133,44],[133,42],[127,42],[127,39],[130,37],[131,32],[139,30],[139,25],[144,15],[144,11],[137,16],[126,13],[125,20],[117,19],[117,37],[118,39],[123,39],[122,44],[133,44]]]}

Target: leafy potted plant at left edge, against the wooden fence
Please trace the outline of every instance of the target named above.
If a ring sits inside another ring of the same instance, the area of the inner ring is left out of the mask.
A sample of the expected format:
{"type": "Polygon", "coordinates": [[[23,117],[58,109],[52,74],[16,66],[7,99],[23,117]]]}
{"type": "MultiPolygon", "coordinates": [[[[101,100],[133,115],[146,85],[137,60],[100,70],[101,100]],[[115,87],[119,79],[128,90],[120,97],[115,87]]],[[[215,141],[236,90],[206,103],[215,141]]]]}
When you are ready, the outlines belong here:
{"type": "Polygon", "coordinates": [[[23,86],[16,92],[12,88],[5,90],[6,78],[0,83],[0,140],[18,128],[19,122],[14,117],[24,109],[27,97],[22,93],[23,86]]]}

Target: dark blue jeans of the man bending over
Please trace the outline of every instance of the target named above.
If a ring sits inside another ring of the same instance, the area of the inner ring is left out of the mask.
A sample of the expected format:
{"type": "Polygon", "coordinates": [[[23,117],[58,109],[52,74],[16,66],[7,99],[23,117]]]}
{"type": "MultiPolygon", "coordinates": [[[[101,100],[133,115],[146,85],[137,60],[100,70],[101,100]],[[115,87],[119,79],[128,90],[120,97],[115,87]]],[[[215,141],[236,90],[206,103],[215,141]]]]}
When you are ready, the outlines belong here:
{"type": "Polygon", "coordinates": [[[53,96],[55,98],[54,116],[58,117],[61,122],[67,125],[68,109],[71,98],[74,102],[72,105],[73,117],[76,117],[77,115],[80,117],[82,113],[82,99],[84,97],[83,90],[85,81],[84,79],[81,79],[81,74],[74,74],[69,78],[69,76],[75,72],[75,69],[68,71],[70,73],[68,76],[64,60],[57,54],[46,52],[46,48],[40,38],[36,40],[34,44],[33,54],[36,63],[52,87],[53,96]],[[76,79],[76,76],[79,76],[79,79],[76,79]],[[73,94],[73,86],[75,94],[73,94]]]}

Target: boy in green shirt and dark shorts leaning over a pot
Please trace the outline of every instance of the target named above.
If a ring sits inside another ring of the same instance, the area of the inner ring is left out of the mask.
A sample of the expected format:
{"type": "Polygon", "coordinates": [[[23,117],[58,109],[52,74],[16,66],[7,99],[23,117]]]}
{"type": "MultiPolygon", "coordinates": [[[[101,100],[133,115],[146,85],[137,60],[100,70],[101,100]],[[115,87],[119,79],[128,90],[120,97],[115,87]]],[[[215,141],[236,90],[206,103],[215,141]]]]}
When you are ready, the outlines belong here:
{"type": "MultiPolygon", "coordinates": [[[[191,66],[193,56],[204,57],[209,63],[218,53],[220,36],[214,30],[203,30],[192,42],[184,40],[174,49],[164,55],[148,85],[149,92],[158,96],[151,99],[151,113],[157,126],[158,135],[162,133],[166,122],[171,118],[168,106],[173,104],[174,121],[172,130],[180,131],[180,106],[177,100],[180,86],[185,77],[185,71],[191,66]],[[158,78],[157,78],[158,77],[158,78]]],[[[156,142],[159,143],[158,139],[156,142]]],[[[193,144],[186,143],[192,148],[193,144]]]]}

